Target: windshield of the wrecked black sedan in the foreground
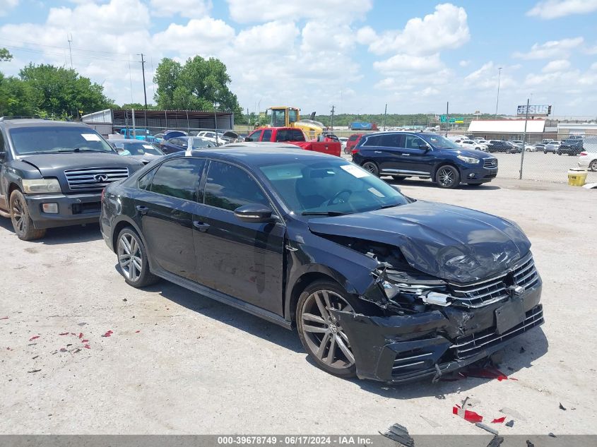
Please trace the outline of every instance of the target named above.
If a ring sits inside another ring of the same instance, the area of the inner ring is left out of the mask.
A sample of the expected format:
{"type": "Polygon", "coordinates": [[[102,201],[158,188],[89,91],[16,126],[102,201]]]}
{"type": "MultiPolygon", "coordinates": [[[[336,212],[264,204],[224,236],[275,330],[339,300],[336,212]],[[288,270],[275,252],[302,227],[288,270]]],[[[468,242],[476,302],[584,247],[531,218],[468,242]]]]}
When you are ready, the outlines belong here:
{"type": "Polygon", "coordinates": [[[345,160],[297,161],[259,169],[299,215],[362,213],[409,203],[385,181],[345,160]]]}

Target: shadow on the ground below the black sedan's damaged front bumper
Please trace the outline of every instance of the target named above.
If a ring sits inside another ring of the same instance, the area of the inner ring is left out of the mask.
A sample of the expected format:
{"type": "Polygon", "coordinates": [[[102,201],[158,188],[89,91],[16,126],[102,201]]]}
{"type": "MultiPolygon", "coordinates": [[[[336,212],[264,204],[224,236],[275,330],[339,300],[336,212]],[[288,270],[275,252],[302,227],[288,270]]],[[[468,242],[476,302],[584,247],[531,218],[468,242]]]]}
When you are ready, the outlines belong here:
{"type": "MultiPolygon", "coordinates": [[[[466,393],[487,381],[495,382],[495,386],[504,387],[504,393],[516,393],[516,388],[509,387],[510,383],[507,382],[512,380],[512,384],[519,383],[514,381],[514,379],[517,380],[516,373],[533,368],[533,362],[546,354],[548,347],[549,342],[542,328],[533,328],[533,330],[521,335],[504,347],[499,352],[502,360],[496,367],[508,377],[508,380],[498,381],[497,379],[463,377],[458,373],[452,373],[444,376],[444,379],[440,379],[436,383],[432,383],[430,378],[407,383],[381,383],[357,379],[353,379],[353,381],[363,390],[384,398],[406,400],[434,396],[437,399],[444,400],[447,394],[461,393],[461,398],[459,396],[458,401],[454,401],[454,403],[460,403],[460,400],[466,397],[466,394],[462,395],[462,393],[466,393]]],[[[475,364],[475,366],[478,365],[475,364]]],[[[466,374],[466,368],[462,371],[466,374]]]]}

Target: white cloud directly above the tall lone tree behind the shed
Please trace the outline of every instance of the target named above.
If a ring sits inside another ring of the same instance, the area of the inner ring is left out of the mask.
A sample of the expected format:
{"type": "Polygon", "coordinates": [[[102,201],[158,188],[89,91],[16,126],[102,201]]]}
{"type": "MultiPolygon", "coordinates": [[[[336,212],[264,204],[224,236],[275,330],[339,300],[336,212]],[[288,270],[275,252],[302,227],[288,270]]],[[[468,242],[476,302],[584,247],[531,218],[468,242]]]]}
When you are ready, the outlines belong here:
{"type": "Polygon", "coordinates": [[[153,35],[153,47],[162,52],[177,52],[182,58],[218,54],[234,40],[235,30],[223,20],[211,17],[191,18],[187,25],[171,23],[165,31],[153,35]]]}

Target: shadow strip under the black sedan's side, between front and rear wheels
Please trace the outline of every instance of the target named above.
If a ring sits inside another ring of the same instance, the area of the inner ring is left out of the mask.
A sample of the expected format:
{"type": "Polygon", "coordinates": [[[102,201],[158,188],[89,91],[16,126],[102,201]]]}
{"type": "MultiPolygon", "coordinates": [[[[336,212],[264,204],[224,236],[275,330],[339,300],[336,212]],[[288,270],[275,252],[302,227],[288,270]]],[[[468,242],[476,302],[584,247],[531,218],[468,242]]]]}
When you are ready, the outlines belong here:
{"type": "Polygon", "coordinates": [[[169,299],[191,311],[199,312],[199,314],[208,316],[213,320],[220,321],[256,337],[276,343],[276,345],[280,345],[286,349],[294,352],[305,352],[302,349],[296,331],[285,329],[276,323],[271,323],[235,307],[204,297],[199,293],[191,292],[191,290],[175,285],[172,282],[161,280],[155,285],[146,287],[144,290],[158,292],[165,299],[169,299]]]}

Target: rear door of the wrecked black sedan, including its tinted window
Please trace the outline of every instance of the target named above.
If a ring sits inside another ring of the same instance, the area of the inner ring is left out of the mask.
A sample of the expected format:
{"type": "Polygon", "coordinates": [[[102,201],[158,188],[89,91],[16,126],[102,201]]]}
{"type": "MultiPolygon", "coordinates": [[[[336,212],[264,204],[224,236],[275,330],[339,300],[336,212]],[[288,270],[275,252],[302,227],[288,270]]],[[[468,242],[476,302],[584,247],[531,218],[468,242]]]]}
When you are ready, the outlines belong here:
{"type": "Polygon", "coordinates": [[[167,160],[139,180],[136,219],[148,253],[160,268],[196,280],[193,215],[205,160],[167,160]]]}

